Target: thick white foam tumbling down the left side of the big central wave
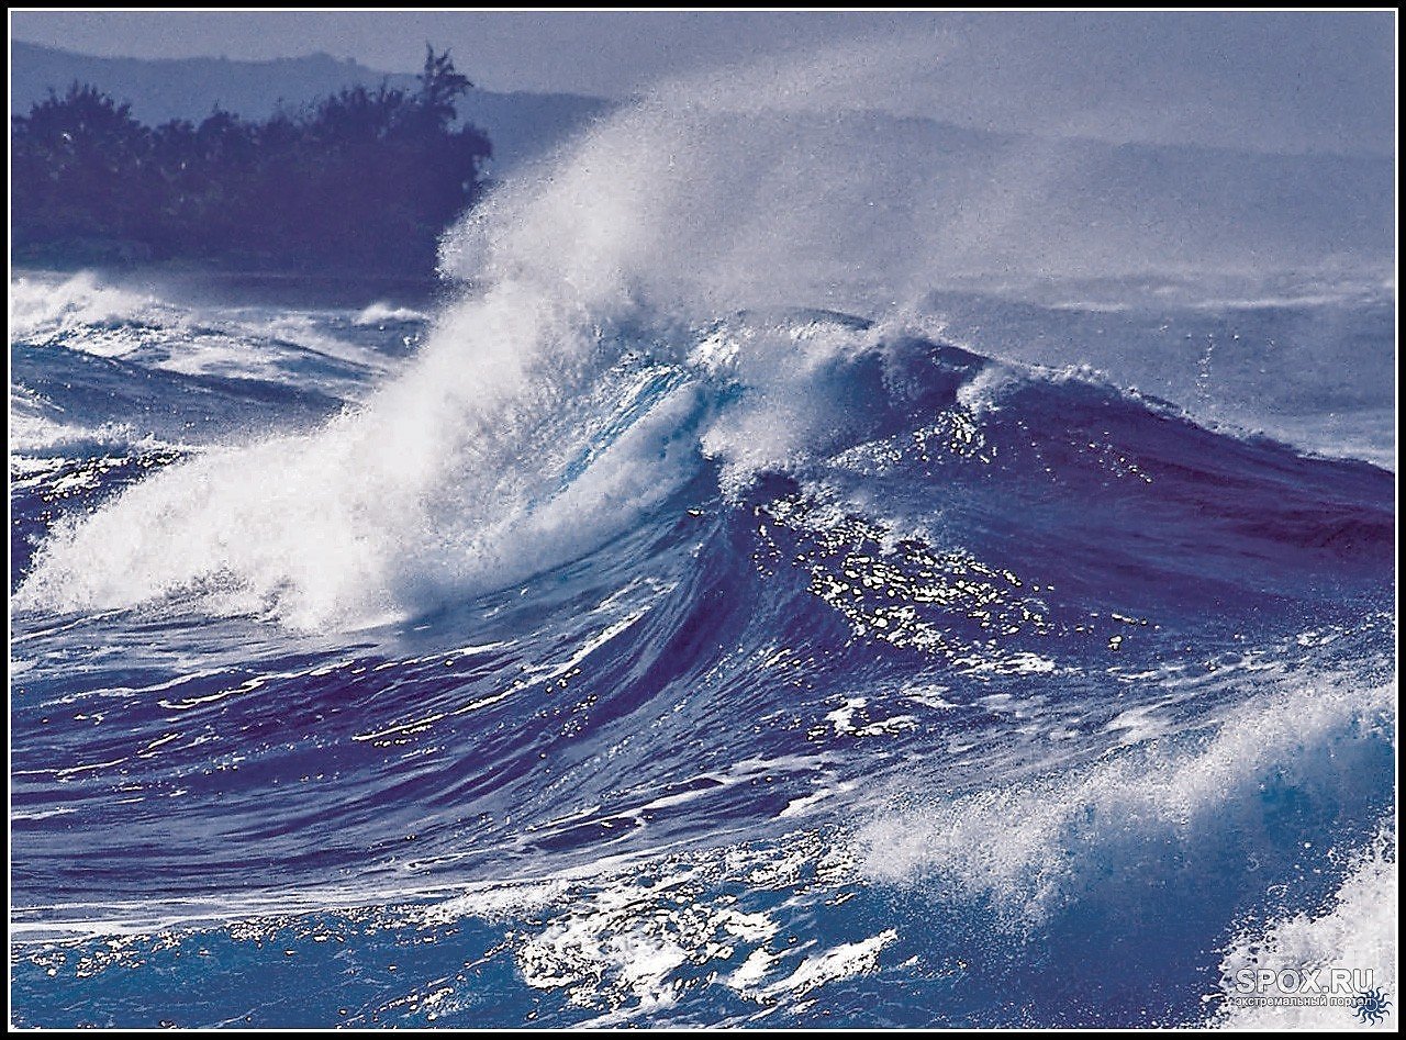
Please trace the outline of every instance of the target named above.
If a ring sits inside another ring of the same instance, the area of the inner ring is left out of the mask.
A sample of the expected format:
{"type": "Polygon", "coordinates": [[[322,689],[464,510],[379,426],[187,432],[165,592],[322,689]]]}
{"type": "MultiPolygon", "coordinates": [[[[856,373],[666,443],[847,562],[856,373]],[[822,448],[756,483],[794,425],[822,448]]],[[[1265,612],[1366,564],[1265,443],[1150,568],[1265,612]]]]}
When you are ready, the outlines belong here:
{"type": "Polygon", "coordinates": [[[174,467],[56,528],[17,604],[179,596],[357,625],[569,559],[688,475],[671,437],[693,405],[688,391],[655,402],[558,492],[581,444],[562,405],[589,384],[595,343],[560,309],[516,284],[461,305],[361,410],[174,467]]]}

